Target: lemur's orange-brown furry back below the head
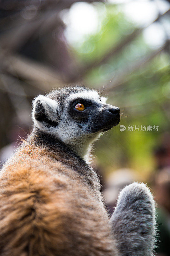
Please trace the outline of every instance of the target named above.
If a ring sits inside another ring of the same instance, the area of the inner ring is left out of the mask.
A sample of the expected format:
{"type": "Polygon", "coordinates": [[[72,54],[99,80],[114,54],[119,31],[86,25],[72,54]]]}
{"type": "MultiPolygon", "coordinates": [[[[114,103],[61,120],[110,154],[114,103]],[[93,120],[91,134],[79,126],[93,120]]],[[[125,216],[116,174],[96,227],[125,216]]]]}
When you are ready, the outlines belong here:
{"type": "Polygon", "coordinates": [[[30,137],[3,168],[0,255],[117,255],[96,174],[65,146],[41,142],[30,137]]]}

